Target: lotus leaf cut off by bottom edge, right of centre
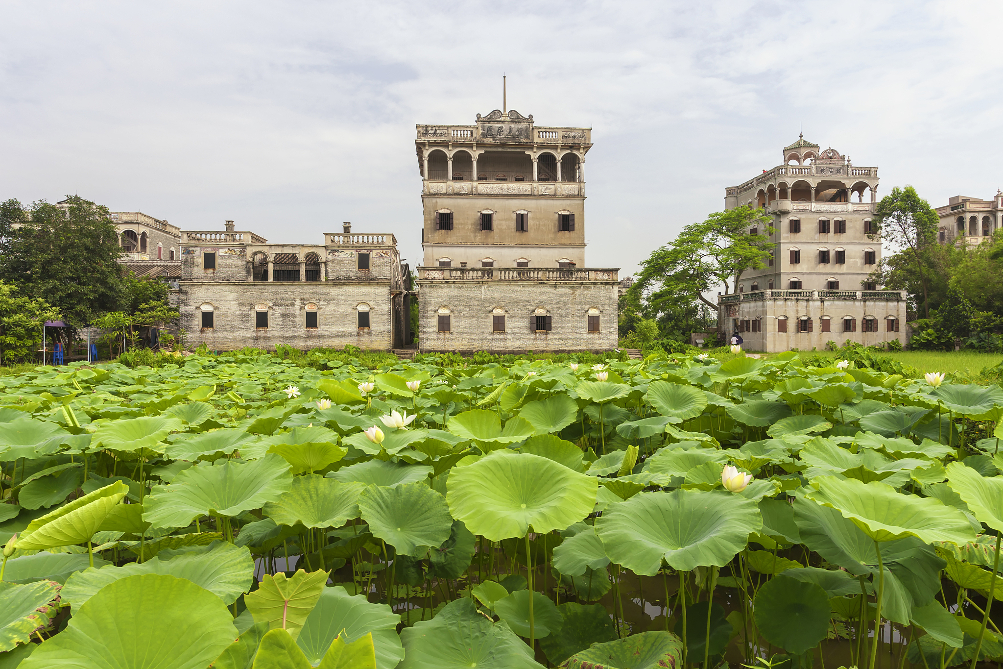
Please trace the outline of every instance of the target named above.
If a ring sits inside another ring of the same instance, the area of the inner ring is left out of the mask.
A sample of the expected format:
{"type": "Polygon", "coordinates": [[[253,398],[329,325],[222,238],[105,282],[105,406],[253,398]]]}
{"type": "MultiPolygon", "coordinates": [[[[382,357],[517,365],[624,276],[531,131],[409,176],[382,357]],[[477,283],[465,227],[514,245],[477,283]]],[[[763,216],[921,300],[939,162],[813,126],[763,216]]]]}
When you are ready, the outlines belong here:
{"type": "MultiPolygon", "coordinates": [[[[690,653],[693,653],[692,646],[690,653]]],[[[682,641],[676,635],[670,632],[641,632],[624,639],[595,644],[572,655],[561,666],[563,669],[661,669],[682,666],[682,641]]],[[[703,657],[702,653],[700,657],[703,657]]]]}

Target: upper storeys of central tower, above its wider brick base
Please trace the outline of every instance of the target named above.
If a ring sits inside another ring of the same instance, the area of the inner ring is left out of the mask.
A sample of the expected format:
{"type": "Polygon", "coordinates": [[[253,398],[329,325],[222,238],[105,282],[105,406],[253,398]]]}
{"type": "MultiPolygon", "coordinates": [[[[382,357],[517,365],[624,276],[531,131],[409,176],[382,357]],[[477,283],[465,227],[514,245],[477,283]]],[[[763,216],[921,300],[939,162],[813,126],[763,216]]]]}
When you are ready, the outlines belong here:
{"type": "Polygon", "coordinates": [[[417,125],[423,266],[584,266],[591,133],[537,126],[515,109],[417,125]]]}

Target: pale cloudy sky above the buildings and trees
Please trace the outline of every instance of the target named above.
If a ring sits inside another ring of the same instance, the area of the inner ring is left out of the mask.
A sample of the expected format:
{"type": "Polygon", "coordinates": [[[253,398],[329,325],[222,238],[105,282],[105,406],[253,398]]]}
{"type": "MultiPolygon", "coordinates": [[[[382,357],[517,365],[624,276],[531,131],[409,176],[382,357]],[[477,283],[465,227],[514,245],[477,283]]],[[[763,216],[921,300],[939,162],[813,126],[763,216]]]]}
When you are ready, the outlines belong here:
{"type": "Polygon", "coordinates": [[[804,136],[931,206],[1003,187],[1003,3],[2,0],[0,199],[421,258],[415,123],[589,126],[621,276],[804,136]]]}

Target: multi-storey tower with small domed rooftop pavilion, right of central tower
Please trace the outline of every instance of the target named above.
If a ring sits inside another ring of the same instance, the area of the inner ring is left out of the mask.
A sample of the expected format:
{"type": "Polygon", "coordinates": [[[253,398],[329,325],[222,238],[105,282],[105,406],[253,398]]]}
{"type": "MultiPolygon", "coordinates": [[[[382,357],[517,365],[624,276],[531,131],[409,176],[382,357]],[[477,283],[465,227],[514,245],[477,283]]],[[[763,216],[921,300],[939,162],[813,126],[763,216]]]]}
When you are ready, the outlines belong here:
{"type": "Polygon", "coordinates": [[[761,351],[905,343],[906,294],[868,280],[881,260],[881,241],[870,237],[877,188],[878,168],[858,168],[799,136],[783,163],[725,189],[727,209],[749,205],[772,217],[776,246],[767,267],[743,273],[736,294],[718,297],[719,329],[761,351]]]}

